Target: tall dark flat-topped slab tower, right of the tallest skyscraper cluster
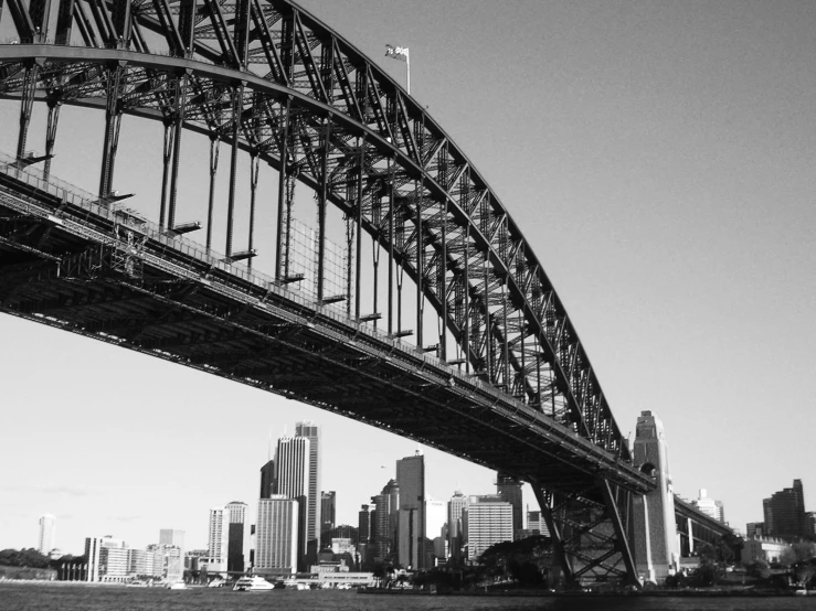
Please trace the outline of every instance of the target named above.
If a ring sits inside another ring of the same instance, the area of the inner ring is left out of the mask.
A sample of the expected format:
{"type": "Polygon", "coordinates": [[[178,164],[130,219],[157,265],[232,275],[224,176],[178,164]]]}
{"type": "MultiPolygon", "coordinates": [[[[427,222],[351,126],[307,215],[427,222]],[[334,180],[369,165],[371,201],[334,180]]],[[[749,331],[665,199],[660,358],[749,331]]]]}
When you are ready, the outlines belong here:
{"type": "Polygon", "coordinates": [[[417,453],[396,461],[400,486],[398,519],[399,562],[407,568],[425,568],[425,457],[417,453]]]}

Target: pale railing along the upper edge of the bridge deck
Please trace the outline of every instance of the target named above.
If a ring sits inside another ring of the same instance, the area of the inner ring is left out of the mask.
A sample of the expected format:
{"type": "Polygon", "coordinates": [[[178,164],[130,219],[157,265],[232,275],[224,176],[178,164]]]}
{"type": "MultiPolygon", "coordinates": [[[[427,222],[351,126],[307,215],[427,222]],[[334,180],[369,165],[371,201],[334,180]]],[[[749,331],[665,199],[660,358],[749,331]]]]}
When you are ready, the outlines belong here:
{"type": "MultiPolygon", "coordinates": [[[[288,301],[303,306],[319,313],[321,317],[330,318],[346,326],[356,329],[365,335],[377,340],[381,344],[389,345],[403,353],[411,354],[444,371],[449,377],[457,379],[464,385],[478,388],[481,393],[488,394],[504,403],[517,403],[522,406],[521,401],[502,393],[489,384],[485,384],[478,377],[463,373],[457,366],[448,365],[441,358],[433,356],[412,344],[393,337],[388,333],[374,329],[367,322],[357,321],[347,317],[342,311],[327,304],[320,304],[316,299],[306,293],[306,291],[290,289],[276,283],[272,276],[250,270],[246,266],[239,262],[229,262],[225,256],[212,249],[189,239],[183,236],[174,235],[167,229],[159,227],[158,224],[148,221],[135,211],[131,211],[120,202],[110,201],[99,197],[93,193],[83,190],[67,181],[60,180],[49,174],[45,176],[41,170],[33,165],[22,167],[18,159],[13,156],[0,151],[0,172],[14,178],[15,180],[28,184],[34,190],[49,193],[57,200],[72,205],[74,208],[86,211],[88,215],[100,216],[107,218],[115,225],[129,228],[137,234],[148,236],[155,243],[161,244],[168,249],[168,253],[182,253],[189,257],[195,258],[206,265],[218,268],[229,275],[240,278],[245,282],[250,282],[263,290],[271,291],[288,301]]],[[[73,214],[72,214],[73,215],[73,214]]],[[[75,215],[74,215],[75,216],[75,215]]]]}

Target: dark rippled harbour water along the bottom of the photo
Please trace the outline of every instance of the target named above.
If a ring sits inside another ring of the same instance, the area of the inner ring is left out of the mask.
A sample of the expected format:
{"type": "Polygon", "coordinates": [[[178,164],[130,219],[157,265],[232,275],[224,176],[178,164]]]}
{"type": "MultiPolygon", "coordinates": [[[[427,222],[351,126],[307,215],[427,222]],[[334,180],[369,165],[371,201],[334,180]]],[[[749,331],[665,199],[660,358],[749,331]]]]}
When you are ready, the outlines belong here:
{"type": "Polygon", "coordinates": [[[358,594],[356,591],[124,588],[0,583],[0,611],[804,611],[816,600],[780,598],[496,597],[358,594]]]}

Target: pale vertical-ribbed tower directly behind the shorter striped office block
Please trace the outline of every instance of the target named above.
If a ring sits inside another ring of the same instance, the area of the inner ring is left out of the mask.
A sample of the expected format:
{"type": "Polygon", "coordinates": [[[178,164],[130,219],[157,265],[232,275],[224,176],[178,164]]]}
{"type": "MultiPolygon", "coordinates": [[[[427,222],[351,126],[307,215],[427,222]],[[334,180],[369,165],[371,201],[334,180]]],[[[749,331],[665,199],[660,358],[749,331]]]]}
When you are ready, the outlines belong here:
{"type": "Polygon", "coordinates": [[[275,479],[277,493],[298,502],[297,558],[298,568],[306,570],[308,549],[308,494],[309,458],[311,442],[307,437],[283,437],[278,439],[275,451],[275,479]]]}

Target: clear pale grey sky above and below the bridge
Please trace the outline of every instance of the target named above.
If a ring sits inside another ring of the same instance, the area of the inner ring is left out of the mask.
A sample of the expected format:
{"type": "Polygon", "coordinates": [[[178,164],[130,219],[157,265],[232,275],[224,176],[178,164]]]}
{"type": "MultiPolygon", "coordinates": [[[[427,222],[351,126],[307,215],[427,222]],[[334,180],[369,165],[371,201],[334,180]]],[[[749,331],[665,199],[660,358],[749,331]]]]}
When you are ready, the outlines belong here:
{"type": "MultiPolygon", "coordinates": [[[[676,492],[708,489],[744,529],[799,478],[816,510],[816,4],[303,6],[401,82],[384,43],[410,47],[412,94],[524,228],[621,429],[645,409],[663,419],[676,492]]],[[[17,112],[0,103],[0,125],[17,112]]],[[[76,112],[57,156],[87,132],[98,156],[98,117],[76,112]]],[[[117,189],[157,193],[160,128],[126,117],[123,129],[117,189]]],[[[13,150],[14,127],[0,131],[13,150]]],[[[53,172],[93,190],[95,164],[63,153],[53,172]]],[[[202,168],[188,172],[203,182],[202,168]]],[[[203,546],[208,508],[253,503],[269,429],[300,419],[322,426],[322,487],[356,524],[415,449],[11,317],[0,346],[0,548],[35,545],[42,513],[65,551],[105,534],[146,545],[159,528],[203,546]]],[[[494,490],[492,473],[425,453],[430,495],[494,490]]]]}

